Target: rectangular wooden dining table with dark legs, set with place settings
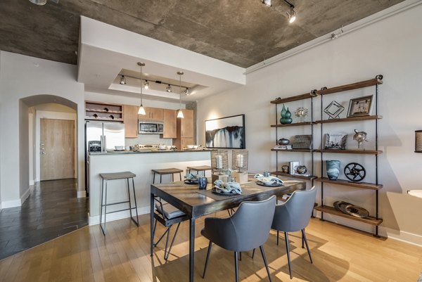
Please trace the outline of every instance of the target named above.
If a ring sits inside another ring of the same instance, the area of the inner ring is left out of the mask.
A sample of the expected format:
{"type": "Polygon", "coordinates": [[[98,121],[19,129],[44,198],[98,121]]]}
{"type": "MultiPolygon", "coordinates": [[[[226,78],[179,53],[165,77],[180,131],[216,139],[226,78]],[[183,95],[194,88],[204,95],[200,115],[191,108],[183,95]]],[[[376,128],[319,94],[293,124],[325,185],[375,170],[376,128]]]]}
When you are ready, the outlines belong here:
{"type": "MultiPolygon", "coordinates": [[[[265,200],[272,195],[278,197],[296,190],[304,190],[305,181],[283,179],[283,186],[260,186],[255,180],[241,184],[242,194],[223,196],[211,191],[212,184],[206,190],[199,190],[198,185],[185,184],[184,181],[169,184],[151,184],[151,256],[153,256],[153,219],[154,198],[160,197],[167,203],[184,212],[189,219],[189,281],[193,282],[195,252],[195,220],[206,214],[238,207],[243,201],[265,200]]],[[[210,182],[210,181],[209,181],[210,182]]]]}

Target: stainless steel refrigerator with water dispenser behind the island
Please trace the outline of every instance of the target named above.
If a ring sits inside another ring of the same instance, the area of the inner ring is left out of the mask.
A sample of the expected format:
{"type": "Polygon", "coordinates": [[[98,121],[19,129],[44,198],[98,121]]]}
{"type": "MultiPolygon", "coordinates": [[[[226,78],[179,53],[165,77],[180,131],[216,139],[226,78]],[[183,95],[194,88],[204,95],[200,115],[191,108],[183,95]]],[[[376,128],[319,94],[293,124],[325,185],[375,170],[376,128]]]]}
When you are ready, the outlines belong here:
{"type": "Polygon", "coordinates": [[[85,187],[89,193],[89,152],[107,153],[124,146],[124,124],[120,122],[85,122],[85,187]],[[91,150],[90,150],[91,149],[91,150]]]}

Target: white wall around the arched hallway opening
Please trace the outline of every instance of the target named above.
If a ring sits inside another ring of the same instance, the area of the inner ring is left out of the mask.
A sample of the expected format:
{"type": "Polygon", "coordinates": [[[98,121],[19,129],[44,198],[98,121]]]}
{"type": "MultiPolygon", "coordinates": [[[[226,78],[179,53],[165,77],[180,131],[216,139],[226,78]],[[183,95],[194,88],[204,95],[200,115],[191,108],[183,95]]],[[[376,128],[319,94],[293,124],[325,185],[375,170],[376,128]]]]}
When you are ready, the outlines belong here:
{"type": "Polygon", "coordinates": [[[78,190],[84,190],[84,85],[76,82],[75,65],[22,56],[0,51],[0,191],[1,205],[20,205],[27,190],[28,172],[28,117],[27,106],[20,99],[49,94],[60,96],[77,104],[78,127],[78,190]],[[26,114],[25,114],[26,111],[26,114]],[[20,112],[26,117],[20,118],[20,112]],[[25,124],[20,124],[20,120],[25,124]],[[20,125],[26,127],[22,132],[20,125]],[[25,148],[18,152],[20,142],[25,148]],[[22,159],[21,159],[22,158],[22,159]],[[25,165],[26,163],[26,165],[25,165]],[[24,179],[21,183],[20,179],[24,179]],[[20,184],[23,191],[20,191],[20,184]]]}

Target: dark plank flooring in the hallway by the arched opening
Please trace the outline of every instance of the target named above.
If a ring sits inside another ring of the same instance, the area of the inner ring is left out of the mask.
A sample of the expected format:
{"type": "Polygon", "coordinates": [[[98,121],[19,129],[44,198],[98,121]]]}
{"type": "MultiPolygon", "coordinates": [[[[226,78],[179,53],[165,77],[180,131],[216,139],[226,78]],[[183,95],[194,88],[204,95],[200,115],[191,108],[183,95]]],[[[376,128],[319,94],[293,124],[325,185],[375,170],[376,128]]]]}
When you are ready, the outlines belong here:
{"type": "Polygon", "coordinates": [[[88,224],[88,198],[76,198],[76,179],[41,181],[21,207],[0,212],[0,259],[88,224]]]}

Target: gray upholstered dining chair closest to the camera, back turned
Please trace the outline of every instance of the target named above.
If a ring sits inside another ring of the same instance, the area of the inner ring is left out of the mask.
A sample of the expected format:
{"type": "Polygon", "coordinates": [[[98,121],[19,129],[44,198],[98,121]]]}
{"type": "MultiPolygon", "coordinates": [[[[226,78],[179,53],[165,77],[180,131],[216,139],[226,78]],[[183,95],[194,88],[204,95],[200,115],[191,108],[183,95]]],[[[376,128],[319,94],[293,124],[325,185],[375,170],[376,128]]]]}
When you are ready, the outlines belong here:
{"type": "Polygon", "coordinates": [[[205,278],[212,243],[215,243],[221,248],[234,251],[236,282],[238,282],[238,252],[245,252],[260,247],[268,278],[271,282],[267,258],[262,245],[264,245],[269,236],[275,207],[276,196],[271,196],[267,200],[241,203],[231,217],[224,219],[207,217],[205,219],[205,227],[201,231],[202,235],[210,240],[203,278],[205,278]]]}

